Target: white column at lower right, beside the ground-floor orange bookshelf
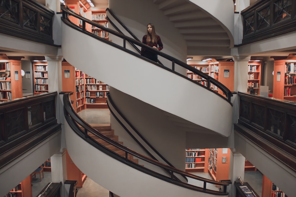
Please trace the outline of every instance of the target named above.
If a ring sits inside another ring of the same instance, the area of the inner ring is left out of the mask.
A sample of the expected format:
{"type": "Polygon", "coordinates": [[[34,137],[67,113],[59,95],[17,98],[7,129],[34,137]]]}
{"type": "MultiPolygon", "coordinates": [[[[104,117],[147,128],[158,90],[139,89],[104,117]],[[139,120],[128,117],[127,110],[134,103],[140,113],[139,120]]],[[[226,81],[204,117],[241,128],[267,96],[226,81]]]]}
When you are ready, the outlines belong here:
{"type": "Polygon", "coordinates": [[[244,162],[245,158],[235,149],[231,149],[230,153],[230,165],[229,165],[229,178],[232,183],[232,188],[229,191],[229,196],[235,197],[234,181],[238,182],[238,178],[241,177],[244,180],[244,162]]]}

